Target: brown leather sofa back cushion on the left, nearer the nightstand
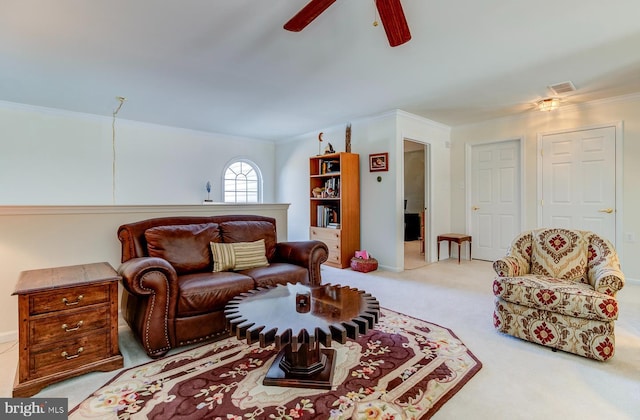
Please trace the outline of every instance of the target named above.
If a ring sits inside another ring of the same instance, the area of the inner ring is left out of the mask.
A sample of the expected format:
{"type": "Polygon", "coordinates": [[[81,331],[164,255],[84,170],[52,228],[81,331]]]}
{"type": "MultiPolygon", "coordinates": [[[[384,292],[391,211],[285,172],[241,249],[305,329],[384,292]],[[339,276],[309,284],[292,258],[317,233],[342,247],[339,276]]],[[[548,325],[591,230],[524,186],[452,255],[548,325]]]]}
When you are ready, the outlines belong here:
{"type": "Polygon", "coordinates": [[[158,226],[144,233],[150,257],[167,260],[178,274],[211,271],[211,242],[220,242],[217,223],[158,226]]]}

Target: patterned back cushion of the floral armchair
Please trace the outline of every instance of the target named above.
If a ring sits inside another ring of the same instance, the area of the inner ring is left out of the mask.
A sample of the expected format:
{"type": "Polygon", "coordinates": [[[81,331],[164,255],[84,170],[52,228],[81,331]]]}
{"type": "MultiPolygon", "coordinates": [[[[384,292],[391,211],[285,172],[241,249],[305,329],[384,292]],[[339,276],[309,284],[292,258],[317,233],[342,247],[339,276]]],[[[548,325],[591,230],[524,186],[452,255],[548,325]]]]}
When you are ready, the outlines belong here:
{"type": "Polygon", "coordinates": [[[586,283],[588,246],[584,232],[579,230],[534,230],[531,273],[586,283]]]}

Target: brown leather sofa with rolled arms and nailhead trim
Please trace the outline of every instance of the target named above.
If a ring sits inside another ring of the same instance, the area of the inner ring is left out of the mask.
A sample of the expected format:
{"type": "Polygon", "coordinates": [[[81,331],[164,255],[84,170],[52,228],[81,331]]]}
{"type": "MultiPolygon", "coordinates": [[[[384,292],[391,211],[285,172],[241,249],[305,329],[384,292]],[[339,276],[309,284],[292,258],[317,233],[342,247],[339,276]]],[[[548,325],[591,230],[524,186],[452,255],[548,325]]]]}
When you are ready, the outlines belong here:
{"type": "Polygon", "coordinates": [[[227,334],[224,307],[240,293],[278,283],[320,284],[327,246],[277,242],[270,217],[163,217],[118,229],[122,313],[151,357],[227,334]],[[213,272],[210,242],[264,239],[268,266],[213,272]]]}

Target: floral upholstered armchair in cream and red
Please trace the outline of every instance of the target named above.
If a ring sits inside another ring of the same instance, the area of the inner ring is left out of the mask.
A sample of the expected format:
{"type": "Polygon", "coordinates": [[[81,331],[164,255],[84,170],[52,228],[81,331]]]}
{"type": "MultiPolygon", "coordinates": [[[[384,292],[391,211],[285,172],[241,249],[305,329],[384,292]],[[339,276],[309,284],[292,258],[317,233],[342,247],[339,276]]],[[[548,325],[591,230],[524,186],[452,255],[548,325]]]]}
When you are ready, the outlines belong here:
{"type": "Polygon", "coordinates": [[[591,359],[613,356],[624,275],[608,240],[581,230],[523,232],[493,269],[498,331],[591,359]]]}

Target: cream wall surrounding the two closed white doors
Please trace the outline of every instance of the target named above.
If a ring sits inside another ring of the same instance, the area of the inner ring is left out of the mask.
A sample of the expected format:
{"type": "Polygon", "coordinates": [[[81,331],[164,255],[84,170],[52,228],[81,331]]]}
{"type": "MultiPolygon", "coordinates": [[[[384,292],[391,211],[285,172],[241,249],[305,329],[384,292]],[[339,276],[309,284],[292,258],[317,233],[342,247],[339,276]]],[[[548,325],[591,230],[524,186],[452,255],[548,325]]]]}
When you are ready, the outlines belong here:
{"type": "MultiPolygon", "coordinates": [[[[629,279],[640,279],[640,96],[613,98],[580,106],[564,106],[551,113],[532,110],[524,115],[485,121],[479,124],[455,127],[451,132],[451,225],[454,230],[465,231],[464,185],[465,147],[522,137],[524,148],[524,219],[523,229],[537,225],[537,136],[539,133],[589,127],[601,124],[623,123],[623,174],[622,208],[617,216],[622,218],[623,238],[617,247],[622,270],[629,279]],[[634,241],[626,239],[630,233],[634,241]]],[[[620,133],[617,133],[620,135],[620,133]]]]}

